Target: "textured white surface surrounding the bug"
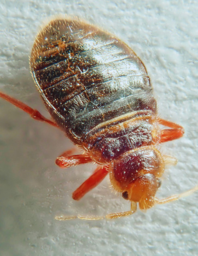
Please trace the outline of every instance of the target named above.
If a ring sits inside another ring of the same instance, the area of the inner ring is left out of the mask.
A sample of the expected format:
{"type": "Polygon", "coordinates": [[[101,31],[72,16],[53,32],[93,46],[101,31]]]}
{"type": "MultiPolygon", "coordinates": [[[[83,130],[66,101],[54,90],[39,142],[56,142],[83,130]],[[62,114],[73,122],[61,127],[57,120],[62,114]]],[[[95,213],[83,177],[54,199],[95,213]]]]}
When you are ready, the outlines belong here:
{"type": "MultiPolygon", "coordinates": [[[[77,15],[127,42],[147,67],[159,116],[185,128],[182,139],[161,147],[178,164],[165,171],[158,196],[197,184],[196,1],[1,0],[0,12],[0,89],[45,116],[28,56],[46,18],[77,15]]],[[[197,255],[197,193],[123,219],[54,220],[62,213],[119,212],[129,204],[110,189],[109,177],[74,202],[72,191],[94,167],[59,169],[55,158],[70,141],[1,99],[0,120],[1,255],[197,255]]]]}

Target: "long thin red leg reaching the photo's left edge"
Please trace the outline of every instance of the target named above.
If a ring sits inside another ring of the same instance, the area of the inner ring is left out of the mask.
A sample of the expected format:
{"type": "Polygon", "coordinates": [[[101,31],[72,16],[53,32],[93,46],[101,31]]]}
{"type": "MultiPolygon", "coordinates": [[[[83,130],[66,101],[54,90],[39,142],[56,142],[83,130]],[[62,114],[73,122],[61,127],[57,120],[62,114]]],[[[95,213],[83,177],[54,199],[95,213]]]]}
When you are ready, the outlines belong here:
{"type": "Polygon", "coordinates": [[[19,109],[28,113],[35,120],[43,121],[45,123],[49,123],[51,126],[58,127],[55,122],[42,116],[38,110],[32,109],[32,107],[29,107],[28,105],[22,103],[21,101],[16,100],[13,97],[10,97],[9,95],[1,92],[0,92],[0,98],[3,98],[4,100],[7,100],[9,103],[15,105],[16,107],[19,107],[19,109]]]}

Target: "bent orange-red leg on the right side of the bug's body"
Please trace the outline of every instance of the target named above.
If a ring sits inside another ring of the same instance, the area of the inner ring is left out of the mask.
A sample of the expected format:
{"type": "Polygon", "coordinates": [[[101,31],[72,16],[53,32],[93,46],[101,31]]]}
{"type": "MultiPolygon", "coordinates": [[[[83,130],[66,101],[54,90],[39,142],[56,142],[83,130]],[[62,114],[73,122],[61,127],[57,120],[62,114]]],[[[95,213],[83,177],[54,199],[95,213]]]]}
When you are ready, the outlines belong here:
{"type": "Polygon", "coordinates": [[[166,141],[175,140],[180,138],[184,134],[184,129],[182,126],[179,126],[176,123],[172,123],[167,120],[163,120],[158,118],[158,123],[162,124],[163,126],[170,127],[172,129],[164,129],[161,130],[161,138],[160,143],[164,143],[166,141]]]}

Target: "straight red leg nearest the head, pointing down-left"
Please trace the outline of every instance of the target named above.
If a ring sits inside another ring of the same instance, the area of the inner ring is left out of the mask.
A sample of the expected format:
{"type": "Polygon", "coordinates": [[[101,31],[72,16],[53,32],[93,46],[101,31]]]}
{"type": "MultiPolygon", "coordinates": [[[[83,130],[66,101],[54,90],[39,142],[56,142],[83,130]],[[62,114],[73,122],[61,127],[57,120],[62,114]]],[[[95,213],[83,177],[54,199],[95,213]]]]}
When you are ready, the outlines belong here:
{"type": "Polygon", "coordinates": [[[109,173],[107,166],[98,167],[95,172],[78,187],[72,195],[74,200],[80,200],[87,192],[94,189],[109,173]]]}

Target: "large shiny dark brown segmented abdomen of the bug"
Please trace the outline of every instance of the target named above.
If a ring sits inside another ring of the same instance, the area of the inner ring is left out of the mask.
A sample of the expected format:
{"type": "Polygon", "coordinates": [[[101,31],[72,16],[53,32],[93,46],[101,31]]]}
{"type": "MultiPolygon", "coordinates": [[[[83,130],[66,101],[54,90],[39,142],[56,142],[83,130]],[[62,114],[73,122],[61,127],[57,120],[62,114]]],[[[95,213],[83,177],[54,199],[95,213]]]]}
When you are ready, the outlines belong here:
{"type": "Polygon", "coordinates": [[[51,21],[34,43],[31,68],[52,117],[77,144],[100,123],[156,112],[142,61],[119,39],[81,21],[51,21]]]}

